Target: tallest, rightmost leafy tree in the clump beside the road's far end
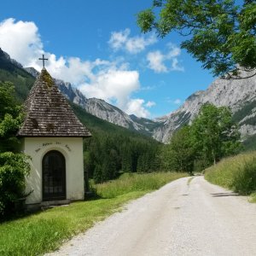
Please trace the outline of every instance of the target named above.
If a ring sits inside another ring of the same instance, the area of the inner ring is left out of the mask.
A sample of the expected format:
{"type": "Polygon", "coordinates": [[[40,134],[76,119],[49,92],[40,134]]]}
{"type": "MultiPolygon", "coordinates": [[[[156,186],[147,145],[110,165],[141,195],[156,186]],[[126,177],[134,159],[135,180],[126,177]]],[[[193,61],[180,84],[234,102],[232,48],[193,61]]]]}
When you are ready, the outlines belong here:
{"type": "Polygon", "coordinates": [[[191,125],[191,146],[206,166],[241,150],[240,133],[229,108],[205,104],[191,125]]]}

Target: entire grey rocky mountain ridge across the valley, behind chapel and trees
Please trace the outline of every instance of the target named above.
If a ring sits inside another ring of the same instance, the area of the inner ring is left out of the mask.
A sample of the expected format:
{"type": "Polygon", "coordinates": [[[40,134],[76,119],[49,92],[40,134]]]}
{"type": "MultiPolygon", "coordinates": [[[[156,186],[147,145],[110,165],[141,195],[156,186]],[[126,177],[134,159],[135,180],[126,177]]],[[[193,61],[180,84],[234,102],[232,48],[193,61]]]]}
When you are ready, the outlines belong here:
{"type": "MultiPolygon", "coordinates": [[[[9,55],[6,53],[5,55],[11,61],[9,55]]],[[[15,60],[12,60],[11,63],[18,67],[21,66],[15,60]]],[[[24,70],[32,74],[33,77],[38,75],[38,71],[33,67],[26,67],[24,70]]],[[[55,83],[70,102],[84,108],[87,113],[131,131],[138,131],[154,137],[162,143],[168,143],[173,132],[185,124],[190,124],[199,113],[202,104],[207,102],[218,107],[226,106],[231,109],[233,119],[240,125],[243,140],[256,136],[255,76],[249,79],[216,79],[208,86],[207,90],[195,91],[177,110],[156,119],[138,118],[133,114],[128,115],[101,99],[88,99],[72,84],[61,79],[55,79],[55,83]]]]}

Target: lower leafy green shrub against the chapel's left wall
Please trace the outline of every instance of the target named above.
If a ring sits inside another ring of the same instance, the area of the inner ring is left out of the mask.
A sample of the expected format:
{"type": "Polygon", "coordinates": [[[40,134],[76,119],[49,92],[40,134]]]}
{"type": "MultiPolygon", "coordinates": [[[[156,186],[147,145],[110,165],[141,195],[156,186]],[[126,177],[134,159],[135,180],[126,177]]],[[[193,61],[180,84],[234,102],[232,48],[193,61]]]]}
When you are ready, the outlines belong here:
{"type": "Polygon", "coordinates": [[[15,213],[15,202],[25,196],[25,175],[30,171],[28,156],[0,154],[0,220],[15,213]]]}

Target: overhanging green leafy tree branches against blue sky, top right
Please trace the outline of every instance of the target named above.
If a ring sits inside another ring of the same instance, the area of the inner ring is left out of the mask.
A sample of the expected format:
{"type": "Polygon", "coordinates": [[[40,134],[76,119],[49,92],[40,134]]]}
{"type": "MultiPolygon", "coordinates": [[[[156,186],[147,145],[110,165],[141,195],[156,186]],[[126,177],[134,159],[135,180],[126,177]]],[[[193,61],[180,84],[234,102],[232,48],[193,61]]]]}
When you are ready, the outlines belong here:
{"type": "Polygon", "coordinates": [[[256,68],[256,3],[234,0],[162,0],[137,15],[143,32],[155,29],[160,37],[179,32],[188,38],[183,49],[216,76],[238,75],[238,68],[256,68]]]}

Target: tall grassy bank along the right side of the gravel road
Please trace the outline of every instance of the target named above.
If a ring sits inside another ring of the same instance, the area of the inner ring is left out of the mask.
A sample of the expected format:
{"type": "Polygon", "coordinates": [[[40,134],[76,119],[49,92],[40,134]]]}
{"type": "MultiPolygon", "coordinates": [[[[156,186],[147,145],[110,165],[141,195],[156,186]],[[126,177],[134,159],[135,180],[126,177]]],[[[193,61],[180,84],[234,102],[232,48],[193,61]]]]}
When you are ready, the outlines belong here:
{"type": "Polygon", "coordinates": [[[210,183],[231,189],[241,195],[251,195],[256,202],[256,152],[238,154],[221,160],[206,169],[205,177],[210,183]]]}

